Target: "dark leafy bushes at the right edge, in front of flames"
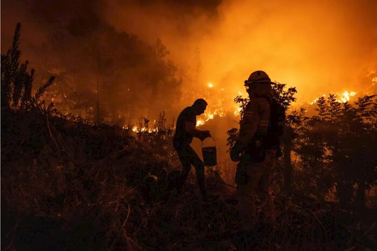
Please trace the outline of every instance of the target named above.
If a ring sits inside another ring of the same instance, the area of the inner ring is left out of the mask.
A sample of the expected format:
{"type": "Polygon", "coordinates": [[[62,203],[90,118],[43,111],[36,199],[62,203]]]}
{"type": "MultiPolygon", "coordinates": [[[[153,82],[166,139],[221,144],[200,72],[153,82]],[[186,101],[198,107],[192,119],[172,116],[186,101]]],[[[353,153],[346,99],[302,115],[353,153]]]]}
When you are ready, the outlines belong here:
{"type": "MultiPolygon", "coordinates": [[[[357,200],[365,206],[365,190],[377,180],[377,102],[375,96],[360,97],[353,105],[339,103],[336,96],[321,97],[317,115],[303,117],[297,132],[296,152],[305,173],[315,180],[323,194],[336,185],[341,202],[357,200]]],[[[314,191],[312,191],[315,193],[314,191]]]]}

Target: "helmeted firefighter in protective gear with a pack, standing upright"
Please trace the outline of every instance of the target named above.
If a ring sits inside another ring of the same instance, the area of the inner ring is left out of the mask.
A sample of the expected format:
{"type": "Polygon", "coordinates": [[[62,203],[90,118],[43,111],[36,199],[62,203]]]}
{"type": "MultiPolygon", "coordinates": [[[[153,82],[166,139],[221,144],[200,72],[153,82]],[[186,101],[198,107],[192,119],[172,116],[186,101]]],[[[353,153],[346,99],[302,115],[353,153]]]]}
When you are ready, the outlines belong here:
{"type": "Polygon", "coordinates": [[[258,190],[264,201],[264,218],[275,219],[270,191],[271,171],[275,166],[278,136],[284,126],[285,113],[284,108],[274,101],[271,80],[264,71],[251,73],[245,80],[245,87],[250,101],[245,107],[239,135],[230,155],[232,161],[239,161],[236,184],[242,230],[252,231],[257,223],[255,200],[258,190]]]}

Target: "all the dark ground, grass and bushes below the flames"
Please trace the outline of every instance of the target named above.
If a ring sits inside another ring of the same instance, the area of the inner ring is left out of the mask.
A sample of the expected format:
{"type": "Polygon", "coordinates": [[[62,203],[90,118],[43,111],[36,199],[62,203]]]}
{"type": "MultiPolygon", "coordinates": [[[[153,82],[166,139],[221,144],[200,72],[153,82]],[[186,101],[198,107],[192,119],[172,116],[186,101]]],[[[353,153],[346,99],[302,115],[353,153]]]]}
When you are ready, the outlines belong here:
{"type": "MultiPolygon", "coordinates": [[[[223,182],[221,166],[207,170],[219,201],[200,202],[193,173],[182,196],[167,197],[167,173],[180,167],[164,115],[158,130],[133,135],[59,113],[41,101],[54,78],[32,93],[18,36],[19,27],[0,56],[3,250],[237,249],[236,191],[223,182]],[[154,204],[143,193],[148,173],[159,177],[154,204]]],[[[295,90],[275,87],[288,107],[295,90]]],[[[377,103],[374,96],[357,102],[330,96],[314,116],[288,116],[274,171],[277,222],[257,226],[253,250],[377,250],[377,103]]]]}

